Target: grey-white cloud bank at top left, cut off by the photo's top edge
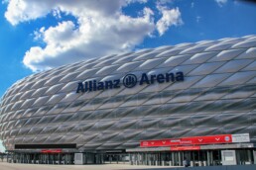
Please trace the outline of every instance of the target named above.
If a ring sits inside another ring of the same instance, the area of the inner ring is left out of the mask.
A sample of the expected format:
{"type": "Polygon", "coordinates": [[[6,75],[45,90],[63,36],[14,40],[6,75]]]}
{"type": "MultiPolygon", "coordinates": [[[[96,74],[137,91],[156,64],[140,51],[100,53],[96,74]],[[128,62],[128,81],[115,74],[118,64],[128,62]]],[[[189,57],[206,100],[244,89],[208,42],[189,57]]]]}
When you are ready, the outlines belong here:
{"type": "Polygon", "coordinates": [[[12,25],[17,25],[20,22],[45,17],[51,11],[56,10],[71,13],[76,17],[84,13],[109,16],[115,14],[125,4],[127,3],[121,0],[82,0],[75,2],[70,0],[10,0],[5,17],[12,25]]]}

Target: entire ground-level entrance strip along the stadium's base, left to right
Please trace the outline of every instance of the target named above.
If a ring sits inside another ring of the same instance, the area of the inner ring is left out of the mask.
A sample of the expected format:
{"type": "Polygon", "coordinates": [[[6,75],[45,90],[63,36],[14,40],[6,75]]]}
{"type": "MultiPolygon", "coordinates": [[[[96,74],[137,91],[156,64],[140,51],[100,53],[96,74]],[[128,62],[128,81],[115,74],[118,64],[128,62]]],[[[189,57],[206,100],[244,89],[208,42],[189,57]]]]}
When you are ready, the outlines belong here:
{"type": "Polygon", "coordinates": [[[12,150],[7,161],[30,164],[131,164],[149,166],[216,166],[256,164],[254,143],[79,152],[76,149],[12,150]]]}

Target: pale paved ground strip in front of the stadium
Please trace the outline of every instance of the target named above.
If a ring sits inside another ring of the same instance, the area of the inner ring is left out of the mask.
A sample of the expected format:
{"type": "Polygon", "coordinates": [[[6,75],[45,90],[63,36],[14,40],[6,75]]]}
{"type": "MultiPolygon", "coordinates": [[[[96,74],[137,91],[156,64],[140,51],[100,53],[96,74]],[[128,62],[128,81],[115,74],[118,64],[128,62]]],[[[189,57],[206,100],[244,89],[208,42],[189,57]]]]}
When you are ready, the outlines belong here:
{"type": "MultiPolygon", "coordinates": [[[[135,166],[128,164],[104,164],[104,165],[38,165],[18,164],[0,161],[0,170],[121,170],[121,169],[162,169],[163,166],[135,166]]],[[[169,167],[170,168],[170,167],[169,167]]]]}

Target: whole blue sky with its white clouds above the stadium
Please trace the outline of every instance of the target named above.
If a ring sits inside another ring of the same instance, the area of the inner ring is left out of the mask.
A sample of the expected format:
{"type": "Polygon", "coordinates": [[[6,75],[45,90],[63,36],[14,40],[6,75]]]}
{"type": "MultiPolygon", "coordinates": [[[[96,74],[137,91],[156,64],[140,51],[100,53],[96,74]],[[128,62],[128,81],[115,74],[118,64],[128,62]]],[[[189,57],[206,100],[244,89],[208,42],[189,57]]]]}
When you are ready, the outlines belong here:
{"type": "Polygon", "coordinates": [[[236,0],[4,0],[0,96],[30,74],[91,57],[255,34],[256,5],[236,0]]]}

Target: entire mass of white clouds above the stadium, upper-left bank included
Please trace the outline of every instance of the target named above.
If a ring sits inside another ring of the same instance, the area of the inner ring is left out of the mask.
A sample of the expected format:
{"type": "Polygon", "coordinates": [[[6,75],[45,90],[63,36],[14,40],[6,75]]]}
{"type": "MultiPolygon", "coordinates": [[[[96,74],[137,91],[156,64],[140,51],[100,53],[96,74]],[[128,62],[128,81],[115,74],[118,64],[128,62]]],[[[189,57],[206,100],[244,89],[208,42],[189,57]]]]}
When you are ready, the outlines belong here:
{"type": "Polygon", "coordinates": [[[48,14],[62,18],[74,16],[77,21],[62,21],[55,27],[40,28],[35,40],[46,45],[32,46],[24,56],[24,64],[40,71],[86,58],[119,53],[134,48],[157,29],[163,35],[169,27],[182,23],[179,9],[163,7],[163,17],[154,23],[154,12],[144,8],[142,15],[130,17],[122,9],[130,3],[147,0],[10,0],[6,19],[12,25],[36,20],[48,14]]]}

